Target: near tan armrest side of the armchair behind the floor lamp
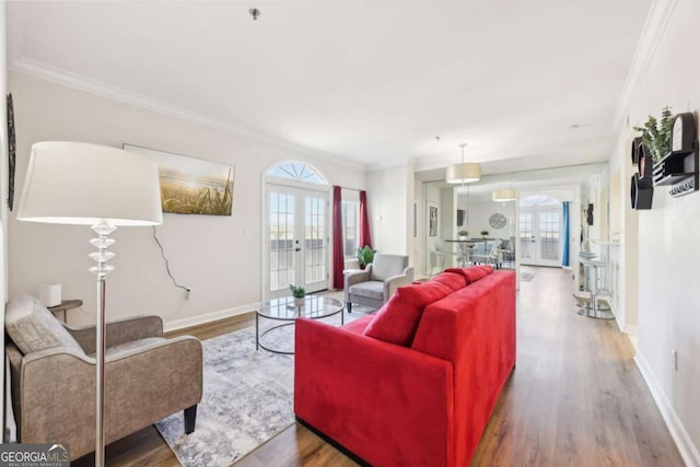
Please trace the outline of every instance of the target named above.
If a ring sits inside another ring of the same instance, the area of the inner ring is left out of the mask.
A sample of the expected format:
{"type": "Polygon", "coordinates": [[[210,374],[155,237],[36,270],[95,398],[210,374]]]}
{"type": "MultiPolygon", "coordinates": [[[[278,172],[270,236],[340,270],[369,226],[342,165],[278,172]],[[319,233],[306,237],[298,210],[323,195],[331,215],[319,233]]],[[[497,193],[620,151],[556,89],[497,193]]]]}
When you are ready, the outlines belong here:
{"type": "MultiPolygon", "coordinates": [[[[201,343],[168,339],[105,363],[105,437],[110,443],[201,399],[201,343]],[[167,389],[167,390],[166,390],[167,389]]],[[[71,458],[95,447],[95,359],[49,349],[21,369],[22,443],[70,443],[71,458]]]]}

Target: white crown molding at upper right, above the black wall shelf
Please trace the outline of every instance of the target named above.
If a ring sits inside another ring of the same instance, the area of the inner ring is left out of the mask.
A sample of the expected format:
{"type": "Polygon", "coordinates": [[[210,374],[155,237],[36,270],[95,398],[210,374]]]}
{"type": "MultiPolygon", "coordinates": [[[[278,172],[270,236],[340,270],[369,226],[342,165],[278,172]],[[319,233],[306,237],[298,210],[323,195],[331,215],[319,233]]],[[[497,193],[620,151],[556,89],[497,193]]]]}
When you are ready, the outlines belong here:
{"type": "Polygon", "coordinates": [[[653,0],[652,2],[615,109],[612,125],[617,132],[623,131],[628,126],[627,116],[632,102],[639,93],[644,75],[654,58],[661,39],[664,37],[668,20],[677,3],[678,0],[653,0]]]}

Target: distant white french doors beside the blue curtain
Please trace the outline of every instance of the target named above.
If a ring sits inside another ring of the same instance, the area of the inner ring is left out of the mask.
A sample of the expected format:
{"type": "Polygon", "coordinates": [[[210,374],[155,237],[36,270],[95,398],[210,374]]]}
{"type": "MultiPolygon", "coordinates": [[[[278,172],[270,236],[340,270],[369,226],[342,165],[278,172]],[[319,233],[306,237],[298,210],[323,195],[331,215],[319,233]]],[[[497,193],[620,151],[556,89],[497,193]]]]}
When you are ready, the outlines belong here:
{"type": "Polygon", "coordinates": [[[521,264],[561,266],[561,221],[559,207],[521,208],[521,264]]]}

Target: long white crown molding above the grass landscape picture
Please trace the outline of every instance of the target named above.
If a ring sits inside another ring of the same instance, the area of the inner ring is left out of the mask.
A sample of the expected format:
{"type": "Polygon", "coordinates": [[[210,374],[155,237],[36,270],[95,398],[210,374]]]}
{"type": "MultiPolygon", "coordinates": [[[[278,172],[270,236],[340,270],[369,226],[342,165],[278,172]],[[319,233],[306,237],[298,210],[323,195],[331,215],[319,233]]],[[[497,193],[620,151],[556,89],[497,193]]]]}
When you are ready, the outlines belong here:
{"type": "Polygon", "coordinates": [[[79,91],[83,91],[90,94],[98,95],[101,97],[116,101],[122,104],[128,104],[135,107],[143,108],[156,114],[165,115],[168,117],[177,118],[179,120],[188,121],[195,125],[201,125],[207,128],[211,128],[218,131],[235,135],[240,137],[250,138],[258,142],[265,142],[273,144],[280,148],[284,148],[298,153],[320,157],[327,161],[332,161],[336,164],[342,166],[366,171],[368,166],[353,161],[349,161],[338,155],[329,154],[323,151],[296,144],[280,138],[276,138],[257,131],[247,127],[233,125],[229,121],[221,120],[205,114],[200,114],[188,108],[179,107],[176,105],[167,104],[162,101],[158,101],[131,91],[127,91],[122,87],[114,86],[103,83],[101,81],[91,80],[80,74],[72,73],[67,70],[50,67],[46,63],[28,59],[26,57],[19,57],[12,59],[9,69],[11,71],[26,74],[28,77],[38,78],[40,80],[49,81],[56,84],[60,84],[67,87],[72,87],[79,91]]]}

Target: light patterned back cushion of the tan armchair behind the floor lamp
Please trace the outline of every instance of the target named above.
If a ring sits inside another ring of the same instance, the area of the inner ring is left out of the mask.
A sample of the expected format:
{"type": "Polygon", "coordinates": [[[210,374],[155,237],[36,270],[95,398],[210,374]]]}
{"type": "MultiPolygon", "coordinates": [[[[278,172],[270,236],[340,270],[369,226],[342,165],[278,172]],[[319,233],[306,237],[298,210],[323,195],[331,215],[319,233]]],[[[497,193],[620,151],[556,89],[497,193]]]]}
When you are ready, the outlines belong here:
{"type": "Polygon", "coordinates": [[[84,354],[78,341],[35,296],[22,295],[5,307],[4,328],[23,354],[67,347],[84,354]]]}

